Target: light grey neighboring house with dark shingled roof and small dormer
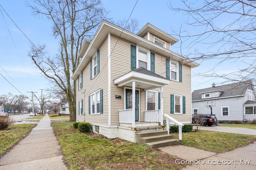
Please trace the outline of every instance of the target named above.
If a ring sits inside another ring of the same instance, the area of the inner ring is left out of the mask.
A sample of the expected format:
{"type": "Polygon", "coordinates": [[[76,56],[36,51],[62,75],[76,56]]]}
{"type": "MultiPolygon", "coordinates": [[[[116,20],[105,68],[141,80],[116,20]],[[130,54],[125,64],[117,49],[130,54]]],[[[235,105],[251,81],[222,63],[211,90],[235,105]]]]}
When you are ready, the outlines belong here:
{"type": "Polygon", "coordinates": [[[252,81],[222,86],[212,84],[211,88],[192,92],[192,114],[212,113],[224,123],[242,123],[256,119],[256,92],[252,81]]]}

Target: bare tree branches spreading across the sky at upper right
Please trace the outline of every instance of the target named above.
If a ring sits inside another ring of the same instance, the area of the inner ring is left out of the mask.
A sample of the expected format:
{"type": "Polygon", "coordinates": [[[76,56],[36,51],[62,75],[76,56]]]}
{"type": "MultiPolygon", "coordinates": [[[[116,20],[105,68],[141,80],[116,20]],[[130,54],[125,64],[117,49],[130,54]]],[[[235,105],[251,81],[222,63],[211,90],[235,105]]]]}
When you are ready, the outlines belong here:
{"type": "Polygon", "coordinates": [[[227,81],[255,81],[256,1],[170,1],[170,9],[187,16],[185,27],[173,30],[181,39],[180,53],[198,63],[206,60],[216,62],[200,75],[221,77],[227,81]],[[235,63],[239,64],[228,73],[215,70],[221,64],[235,63]]]}

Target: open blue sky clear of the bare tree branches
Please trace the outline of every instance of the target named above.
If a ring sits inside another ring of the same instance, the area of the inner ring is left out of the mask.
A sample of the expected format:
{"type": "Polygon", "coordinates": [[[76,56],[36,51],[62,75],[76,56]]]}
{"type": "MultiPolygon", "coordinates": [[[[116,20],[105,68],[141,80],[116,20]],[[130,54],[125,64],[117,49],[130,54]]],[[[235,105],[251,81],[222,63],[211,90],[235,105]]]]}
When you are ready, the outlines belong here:
{"type": "MultiPolygon", "coordinates": [[[[124,18],[128,19],[136,0],[102,0],[102,3],[110,11],[110,17],[117,21],[124,18]]],[[[131,18],[139,21],[138,29],[141,29],[146,23],[151,23],[159,29],[172,34],[172,29],[178,30],[181,24],[185,25],[184,20],[186,20],[187,16],[176,14],[170,10],[168,8],[169,3],[169,0],[138,0],[131,18]]],[[[30,41],[36,45],[46,44],[49,54],[56,54],[58,41],[52,36],[52,24],[50,21],[32,16],[31,10],[25,5],[24,0],[1,1],[0,5],[30,41]]],[[[38,68],[28,57],[30,42],[2,8],[0,8],[2,12],[0,14],[0,73],[18,90],[0,75],[0,95],[11,92],[15,95],[22,93],[31,96],[31,93],[27,92],[33,91],[38,92],[38,96],[40,96],[40,89],[47,89],[48,81],[42,77],[38,68]]],[[[196,30],[187,31],[194,32],[196,30]]],[[[175,38],[178,39],[178,37],[175,38]]],[[[179,53],[179,45],[179,43],[176,43],[172,51],[179,53]]],[[[193,75],[209,68],[209,63],[200,64],[199,67],[192,69],[193,75]]],[[[233,66],[232,69],[235,69],[235,67],[233,66]]],[[[231,70],[222,66],[219,71],[230,72],[231,70]]],[[[213,82],[218,84],[222,80],[193,77],[192,90],[208,88],[213,82]]]]}

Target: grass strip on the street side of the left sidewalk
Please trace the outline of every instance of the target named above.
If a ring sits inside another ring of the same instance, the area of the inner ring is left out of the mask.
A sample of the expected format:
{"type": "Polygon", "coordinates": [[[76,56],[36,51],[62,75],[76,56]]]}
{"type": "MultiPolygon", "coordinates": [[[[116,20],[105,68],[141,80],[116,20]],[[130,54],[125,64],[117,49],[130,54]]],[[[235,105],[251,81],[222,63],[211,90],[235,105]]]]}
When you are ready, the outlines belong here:
{"type": "Polygon", "coordinates": [[[0,155],[12,148],[23,139],[36,124],[10,125],[8,129],[0,131],[0,155]]]}

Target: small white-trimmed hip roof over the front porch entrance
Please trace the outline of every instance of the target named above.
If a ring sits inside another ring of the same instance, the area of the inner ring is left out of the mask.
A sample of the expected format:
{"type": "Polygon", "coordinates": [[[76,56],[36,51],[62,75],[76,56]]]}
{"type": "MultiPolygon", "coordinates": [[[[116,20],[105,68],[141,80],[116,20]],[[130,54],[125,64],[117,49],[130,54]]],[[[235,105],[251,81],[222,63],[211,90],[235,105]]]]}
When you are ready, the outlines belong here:
{"type": "Polygon", "coordinates": [[[150,90],[170,84],[170,80],[146,70],[143,67],[131,70],[130,72],[114,79],[114,84],[117,84],[118,87],[132,87],[132,81],[136,82],[136,88],[143,88],[144,90],[150,90]]]}

